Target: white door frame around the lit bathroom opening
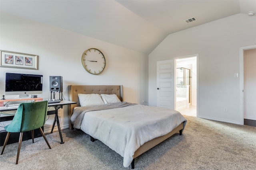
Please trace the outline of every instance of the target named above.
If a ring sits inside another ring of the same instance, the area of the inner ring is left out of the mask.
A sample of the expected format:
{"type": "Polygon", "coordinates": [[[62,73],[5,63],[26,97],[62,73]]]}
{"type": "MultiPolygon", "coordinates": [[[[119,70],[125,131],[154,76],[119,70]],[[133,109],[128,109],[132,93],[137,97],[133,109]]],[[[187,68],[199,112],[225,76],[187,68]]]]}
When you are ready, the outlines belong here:
{"type": "MultiPolygon", "coordinates": [[[[181,57],[175,57],[174,59],[174,75],[175,75],[175,84],[176,84],[176,60],[177,59],[186,59],[196,57],[196,117],[199,117],[199,54],[187,55],[181,57]]],[[[174,108],[176,109],[176,86],[174,90],[174,108]]]]}

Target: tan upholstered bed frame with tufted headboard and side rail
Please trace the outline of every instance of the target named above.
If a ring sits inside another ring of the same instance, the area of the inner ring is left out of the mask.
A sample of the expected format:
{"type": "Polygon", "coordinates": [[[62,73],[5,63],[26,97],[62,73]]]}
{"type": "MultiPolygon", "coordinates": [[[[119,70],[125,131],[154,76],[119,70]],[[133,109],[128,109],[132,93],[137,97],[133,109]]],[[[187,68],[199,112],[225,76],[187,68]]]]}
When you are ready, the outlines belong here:
{"type": "MultiPolygon", "coordinates": [[[[79,100],[78,100],[78,94],[116,94],[118,98],[123,101],[123,89],[122,85],[120,86],[110,86],[110,85],[98,85],[98,86],[74,86],[70,85],[68,87],[68,95],[69,95],[69,100],[73,102],[77,102],[77,104],[72,104],[68,105],[68,118],[70,119],[74,107],[80,106],[79,100]]],[[[69,123],[69,128],[73,129],[73,125],[69,123]]],[[[178,127],[176,127],[173,131],[170,133],[155,138],[151,141],[148,141],[144,143],[136,152],[134,153],[133,156],[133,161],[131,164],[131,168],[134,169],[134,159],[141,155],[142,153],[146,152],[147,150],[153,148],[154,146],[158,145],[162,141],[168,139],[178,131],[180,132],[180,135],[182,135],[182,129],[183,129],[183,123],[181,123],[178,127]]],[[[91,138],[92,140],[92,138],[91,138]]],[[[93,140],[92,140],[93,141],[93,140]]]]}

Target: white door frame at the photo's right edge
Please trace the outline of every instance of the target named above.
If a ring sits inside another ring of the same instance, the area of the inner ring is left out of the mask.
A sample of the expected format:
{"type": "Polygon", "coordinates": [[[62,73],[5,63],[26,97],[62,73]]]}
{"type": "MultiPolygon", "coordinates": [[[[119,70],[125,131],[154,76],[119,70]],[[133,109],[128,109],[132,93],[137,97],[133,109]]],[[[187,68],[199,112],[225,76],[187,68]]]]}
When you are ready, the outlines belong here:
{"type": "Polygon", "coordinates": [[[240,125],[244,125],[244,50],[256,49],[256,45],[240,47],[240,125]]]}

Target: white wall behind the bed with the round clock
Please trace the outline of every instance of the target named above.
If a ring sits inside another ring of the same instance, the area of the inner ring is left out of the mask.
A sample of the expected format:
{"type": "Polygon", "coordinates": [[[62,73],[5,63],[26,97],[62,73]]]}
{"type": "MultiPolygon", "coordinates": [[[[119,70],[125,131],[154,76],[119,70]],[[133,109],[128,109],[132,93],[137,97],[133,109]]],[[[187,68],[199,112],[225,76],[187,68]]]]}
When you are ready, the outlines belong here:
{"type": "MultiPolygon", "coordinates": [[[[49,76],[63,76],[63,95],[68,85],[123,85],[124,101],[142,104],[148,99],[148,55],[1,12],[0,49],[39,56],[38,70],[0,67],[0,95],[4,95],[5,73],[44,76],[43,97],[50,98],[49,76]],[[82,65],[82,53],[97,48],[106,57],[102,74],[92,75],[82,65]]],[[[10,97],[10,96],[9,96],[10,97]]],[[[8,96],[6,96],[8,98],[8,96]]],[[[67,106],[60,109],[62,128],[68,127],[67,106]]],[[[46,124],[52,124],[51,117],[46,124]]],[[[45,128],[45,131],[47,129],[45,128]]]]}

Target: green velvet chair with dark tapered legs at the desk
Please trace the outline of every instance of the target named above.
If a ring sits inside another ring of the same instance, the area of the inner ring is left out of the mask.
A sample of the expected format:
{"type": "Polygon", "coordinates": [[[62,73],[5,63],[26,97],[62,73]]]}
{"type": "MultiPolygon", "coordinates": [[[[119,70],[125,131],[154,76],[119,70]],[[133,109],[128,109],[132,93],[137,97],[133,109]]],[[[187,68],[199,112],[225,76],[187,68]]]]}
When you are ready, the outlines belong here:
{"type": "Polygon", "coordinates": [[[19,132],[19,146],[16,158],[16,164],[18,164],[19,155],[20,155],[20,147],[22,142],[23,132],[32,131],[32,143],[34,143],[34,129],[39,129],[44,140],[46,141],[48,147],[51,149],[50,144],[48,143],[44,132],[42,131],[42,126],[46,121],[47,116],[47,108],[48,102],[33,102],[33,103],[21,103],[18,106],[16,114],[12,119],[12,122],[9,125],[6,125],[4,129],[7,131],[7,135],[4,141],[4,146],[2,148],[1,154],[4,152],[4,148],[8,142],[10,133],[19,132]]]}

